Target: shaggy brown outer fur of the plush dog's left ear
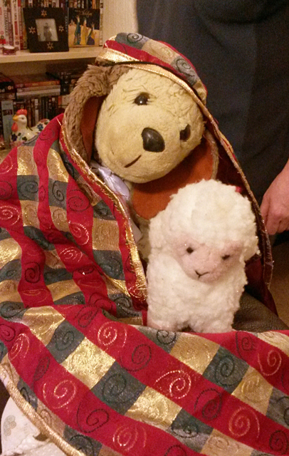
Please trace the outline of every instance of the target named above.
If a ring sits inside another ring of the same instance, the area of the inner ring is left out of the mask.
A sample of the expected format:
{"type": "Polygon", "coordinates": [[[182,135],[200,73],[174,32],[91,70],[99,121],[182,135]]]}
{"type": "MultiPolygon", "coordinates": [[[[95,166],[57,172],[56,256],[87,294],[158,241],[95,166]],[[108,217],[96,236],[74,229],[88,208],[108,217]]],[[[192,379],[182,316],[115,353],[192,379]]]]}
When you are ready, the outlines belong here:
{"type": "MultiPolygon", "coordinates": [[[[105,98],[110,93],[112,86],[117,83],[118,79],[123,73],[127,73],[128,68],[122,66],[88,66],[88,70],[83,73],[83,76],[78,80],[73,93],[70,94],[70,101],[68,107],[65,109],[65,124],[67,128],[67,135],[71,145],[79,153],[86,162],[89,162],[91,156],[91,148],[85,150],[85,145],[91,144],[87,136],[83,141],[80,126],[85,123],[83,115],[89,115],[88,110],[84,109],[85,104],[90,98],[105,98]],[[85,143],[84,143],[85,142],[85,143]],[[89,150],[90,149],[90,150],[89,150]]],[[[95,123],[98,116],[98,109],[101,103],[97,103],[93,109],[93,121],[90,119],[90,128],[94,124],[93,131],[91,131],[91,138],[95,129],[95,123]]],[[[87,131],[86,131],[87,135],[87,131]]]]}

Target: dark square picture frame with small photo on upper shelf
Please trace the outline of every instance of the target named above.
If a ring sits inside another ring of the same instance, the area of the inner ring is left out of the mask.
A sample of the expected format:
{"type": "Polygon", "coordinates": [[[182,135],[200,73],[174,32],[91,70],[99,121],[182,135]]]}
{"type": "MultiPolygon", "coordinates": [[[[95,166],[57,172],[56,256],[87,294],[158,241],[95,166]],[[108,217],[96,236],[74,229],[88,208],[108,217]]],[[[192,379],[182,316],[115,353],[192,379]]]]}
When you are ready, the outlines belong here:
{"type": "Polygon", "coordinates": [[[68,51],[68,34],[62,8],[23,8],[30,52],[68,51]]]}

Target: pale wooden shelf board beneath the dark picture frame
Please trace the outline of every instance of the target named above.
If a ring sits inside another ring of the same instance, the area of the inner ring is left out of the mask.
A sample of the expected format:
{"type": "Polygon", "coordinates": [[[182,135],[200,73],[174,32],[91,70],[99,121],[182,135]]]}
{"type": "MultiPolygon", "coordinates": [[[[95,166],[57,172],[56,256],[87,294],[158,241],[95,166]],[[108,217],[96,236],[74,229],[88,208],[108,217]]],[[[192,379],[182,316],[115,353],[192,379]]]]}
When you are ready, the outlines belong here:
{"type": "Polygon", "coordinates": [[[0,65],[2,63],[21,63],[37,61],[57,61],[71,60],[80,58],[96,58],[102,46],[92,46],[90,48],[70,48],[68,52],[41,52],[31,53],[29,51],[17,51],[14,56],[4,56],[0,54],[0,65]]]}

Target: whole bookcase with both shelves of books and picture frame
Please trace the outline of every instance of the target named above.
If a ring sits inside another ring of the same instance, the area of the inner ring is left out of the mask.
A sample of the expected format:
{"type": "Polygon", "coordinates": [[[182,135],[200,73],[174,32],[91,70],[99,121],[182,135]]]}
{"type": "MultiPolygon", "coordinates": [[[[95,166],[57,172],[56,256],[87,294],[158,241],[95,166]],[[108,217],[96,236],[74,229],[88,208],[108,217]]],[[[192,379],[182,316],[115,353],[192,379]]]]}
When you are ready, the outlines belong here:
{"type": "Polygon", "coordinates": [[[0,156],[65,110],[102,43],[103,0],[0,0],[0,156]]]}

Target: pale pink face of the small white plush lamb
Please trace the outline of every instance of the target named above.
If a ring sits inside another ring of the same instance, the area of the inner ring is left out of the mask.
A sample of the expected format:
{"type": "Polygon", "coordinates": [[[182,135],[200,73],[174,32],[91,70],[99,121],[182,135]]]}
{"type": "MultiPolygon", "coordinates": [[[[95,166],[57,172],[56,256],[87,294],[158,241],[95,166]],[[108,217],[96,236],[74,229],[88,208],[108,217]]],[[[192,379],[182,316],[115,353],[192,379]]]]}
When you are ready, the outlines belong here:
{"type": "Polygon", "coordinates": [[[200,244],[189,234],[182,234],[172,244],[172,254],[186,275],[207,283],[220,279],[238,262],[243,266],[241,252],[241,244],[236,242],[217,248],[200,244]]]}

